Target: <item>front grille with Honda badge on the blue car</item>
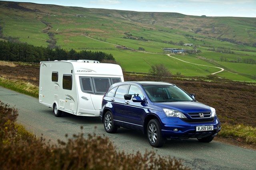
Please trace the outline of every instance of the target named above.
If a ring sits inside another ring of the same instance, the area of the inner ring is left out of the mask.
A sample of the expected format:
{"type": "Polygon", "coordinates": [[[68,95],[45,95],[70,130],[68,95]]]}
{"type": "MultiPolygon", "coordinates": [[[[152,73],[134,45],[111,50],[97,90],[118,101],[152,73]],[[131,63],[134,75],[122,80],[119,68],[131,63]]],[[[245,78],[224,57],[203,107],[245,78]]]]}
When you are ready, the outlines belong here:
{"type": "Polygon", "coordinates": [[[214,117],[211,117],[211,112],[203,113],[204,117],[200,117],[201,113],[187,113],[188,114],[187,117],[182,118],[182,120],[184,120],[186,122],[191,122],[191,123],[214,121],[214,117]]]}

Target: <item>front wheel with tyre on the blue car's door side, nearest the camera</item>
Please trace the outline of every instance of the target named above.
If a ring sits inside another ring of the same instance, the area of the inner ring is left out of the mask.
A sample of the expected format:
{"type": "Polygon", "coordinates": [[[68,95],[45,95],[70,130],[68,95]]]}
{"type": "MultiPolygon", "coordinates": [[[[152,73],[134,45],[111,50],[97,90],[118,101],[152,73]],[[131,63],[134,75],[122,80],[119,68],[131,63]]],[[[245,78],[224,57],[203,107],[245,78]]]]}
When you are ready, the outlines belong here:
{"type": "Polygon", "coordinates": [[[148,142],[152,147],[162,147],[166,141],[165,137],[162,137],[161,126],[157,119],[152,119],[148,122],[147,137],[148,142]]]}

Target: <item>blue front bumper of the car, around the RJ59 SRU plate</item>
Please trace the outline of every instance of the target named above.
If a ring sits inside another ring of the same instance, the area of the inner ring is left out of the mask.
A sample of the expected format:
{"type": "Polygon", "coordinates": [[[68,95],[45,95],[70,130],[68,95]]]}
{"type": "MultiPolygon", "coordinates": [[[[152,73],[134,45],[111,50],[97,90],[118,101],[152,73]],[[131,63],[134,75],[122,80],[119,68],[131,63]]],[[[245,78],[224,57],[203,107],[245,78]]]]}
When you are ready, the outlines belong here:
{"type": "Polygon", "coordinates": [[[171,139],[203,138],[210,135],[216,136],[220,131],[220,121],[217,116],[212,122],[189,123],[178,117],[165,117],[162,121],[162,135],[171,139]],[[196,131],[196,126],[213,125],[213,131],[196,131]],[[178,129],[178,131],[174,131],[178,129]]]}

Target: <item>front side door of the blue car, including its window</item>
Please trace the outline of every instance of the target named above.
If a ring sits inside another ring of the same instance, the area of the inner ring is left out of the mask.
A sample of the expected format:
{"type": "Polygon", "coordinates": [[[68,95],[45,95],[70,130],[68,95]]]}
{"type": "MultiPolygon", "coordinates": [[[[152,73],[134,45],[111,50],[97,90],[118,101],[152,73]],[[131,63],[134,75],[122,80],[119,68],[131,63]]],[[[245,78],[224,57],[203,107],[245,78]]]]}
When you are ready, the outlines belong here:
{"type": "MultiPolygon", "coordinates": [[[[142,91],[136,85],[130,85],[128,94],[131,94],[132,97],[134,97],[134,95],[136,94],[140,96],[142,100],[144,99],[142,91]]],[[[132,99],[124,100],[122,120],[124,121],[125,126],[141,130],[143,125],[144,114],[146,114],[145,103],[132,102],[132,99]]]]}

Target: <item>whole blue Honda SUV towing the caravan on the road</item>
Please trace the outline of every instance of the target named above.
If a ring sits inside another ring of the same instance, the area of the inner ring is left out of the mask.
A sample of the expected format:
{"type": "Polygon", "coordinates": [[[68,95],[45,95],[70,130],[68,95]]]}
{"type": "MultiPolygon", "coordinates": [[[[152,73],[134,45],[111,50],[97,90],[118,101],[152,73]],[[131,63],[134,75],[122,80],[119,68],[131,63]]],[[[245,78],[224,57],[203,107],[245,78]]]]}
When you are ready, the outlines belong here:
{"type": "Polygon", "coordinates": [[[140,130],[153,147],[162,147],[166,139],[210,142],[221,129],[220,120],[214,108],[194,96],[166,82],[115,83],[102,99],[100,116],[106,132],[140,130]]]}

